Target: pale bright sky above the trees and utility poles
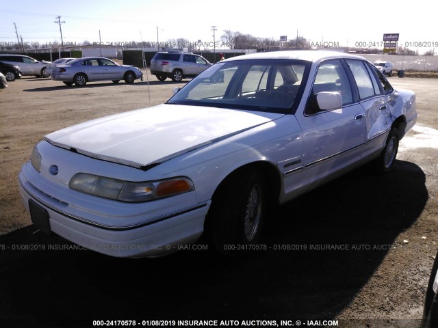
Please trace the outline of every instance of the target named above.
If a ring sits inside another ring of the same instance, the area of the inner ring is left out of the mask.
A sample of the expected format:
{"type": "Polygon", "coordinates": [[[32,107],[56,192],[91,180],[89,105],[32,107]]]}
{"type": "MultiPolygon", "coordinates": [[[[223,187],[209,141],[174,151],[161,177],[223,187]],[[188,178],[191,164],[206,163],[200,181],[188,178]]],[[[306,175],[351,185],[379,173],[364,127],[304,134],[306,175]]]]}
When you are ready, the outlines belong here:
{"type": "Polygon", "coordinates": [[[402,46],[438,51],[436,11],[425,0],[0,0],[0,8],[0,45],[17,42],[14,23],[23,42],[60,42],[61,16],[63,40],[72,43],[99,42],[100,31],[103,44],[177,38],[212,44],[213,34],[218,41],[228,29],[275,40],[298,32],[313,44],[348,47],[379,45],[384,33],[399,33],[402,46]]]}

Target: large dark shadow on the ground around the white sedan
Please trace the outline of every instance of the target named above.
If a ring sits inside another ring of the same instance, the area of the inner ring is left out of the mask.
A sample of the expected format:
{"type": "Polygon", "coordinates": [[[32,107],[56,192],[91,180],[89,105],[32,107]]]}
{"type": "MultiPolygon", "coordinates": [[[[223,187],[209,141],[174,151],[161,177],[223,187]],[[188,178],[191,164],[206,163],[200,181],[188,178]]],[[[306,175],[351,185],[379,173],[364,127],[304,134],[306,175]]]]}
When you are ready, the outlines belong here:
{"type": "Polygon", "coordinates": [[[0,321],[335,318],[420,217],[425,180],[405,161],[357,169],[272,210],[260,249],[241,258],[203,244],[111,258],[27,226],[0,236],[0,321]]]}

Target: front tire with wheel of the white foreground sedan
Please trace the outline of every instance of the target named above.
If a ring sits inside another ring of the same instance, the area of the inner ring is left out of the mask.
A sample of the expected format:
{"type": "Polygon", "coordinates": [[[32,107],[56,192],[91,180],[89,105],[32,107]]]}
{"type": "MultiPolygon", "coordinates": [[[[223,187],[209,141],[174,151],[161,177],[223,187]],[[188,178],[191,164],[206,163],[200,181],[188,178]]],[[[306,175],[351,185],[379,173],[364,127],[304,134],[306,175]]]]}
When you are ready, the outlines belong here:
{"type": "Polygon", "coordinates": [[[243,255],[256,245],[268,206],[266,183],[255,170],[232,174],[220,184],[207,215],[207,238],[222,254],[243,255]]]}

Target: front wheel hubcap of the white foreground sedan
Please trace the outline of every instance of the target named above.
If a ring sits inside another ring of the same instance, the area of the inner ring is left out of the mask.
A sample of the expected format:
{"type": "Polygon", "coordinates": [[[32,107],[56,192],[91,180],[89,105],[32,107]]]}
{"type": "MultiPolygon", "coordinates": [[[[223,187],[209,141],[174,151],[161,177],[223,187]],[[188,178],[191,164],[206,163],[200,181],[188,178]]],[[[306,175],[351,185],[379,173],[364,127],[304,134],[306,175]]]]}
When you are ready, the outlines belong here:
{"type": "Polygon", "coordinates": [[[261,206],[261,189],[256,184],[250,191],[245,210],[244,228],[247,241],[253,241],[259,230],[261,206]]]}

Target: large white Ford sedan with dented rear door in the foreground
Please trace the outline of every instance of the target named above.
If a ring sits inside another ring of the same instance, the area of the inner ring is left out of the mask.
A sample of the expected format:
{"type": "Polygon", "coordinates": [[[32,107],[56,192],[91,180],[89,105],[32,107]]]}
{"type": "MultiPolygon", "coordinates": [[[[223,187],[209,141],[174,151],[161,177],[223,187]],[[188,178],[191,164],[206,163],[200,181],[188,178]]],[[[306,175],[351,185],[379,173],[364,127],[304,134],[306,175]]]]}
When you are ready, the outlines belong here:
{"type": "Polygon", "coordinates": [[[244,55],[165,104],[47,135],[19,186],[36,226],[103,254],[161,256],[203,233],[228,253],[258,245],[270,204],[370,161],[389,171],[416,118],[415,94],[363,57],[244,55]]]}

